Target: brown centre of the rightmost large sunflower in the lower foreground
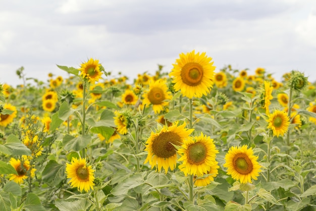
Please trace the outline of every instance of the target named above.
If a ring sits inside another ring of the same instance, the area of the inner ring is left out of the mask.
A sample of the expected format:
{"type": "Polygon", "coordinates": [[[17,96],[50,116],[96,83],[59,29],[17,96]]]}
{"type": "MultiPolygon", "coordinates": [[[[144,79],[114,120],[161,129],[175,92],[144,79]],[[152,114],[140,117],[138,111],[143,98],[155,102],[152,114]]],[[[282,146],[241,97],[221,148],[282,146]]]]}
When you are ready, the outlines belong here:
{"type": "Polygon", "coordinates": [[[236,172],[242,175],[247,175],[253,170],[252,162],[245,153],[236,154],[233,159],[233,165],[236,172]]]}

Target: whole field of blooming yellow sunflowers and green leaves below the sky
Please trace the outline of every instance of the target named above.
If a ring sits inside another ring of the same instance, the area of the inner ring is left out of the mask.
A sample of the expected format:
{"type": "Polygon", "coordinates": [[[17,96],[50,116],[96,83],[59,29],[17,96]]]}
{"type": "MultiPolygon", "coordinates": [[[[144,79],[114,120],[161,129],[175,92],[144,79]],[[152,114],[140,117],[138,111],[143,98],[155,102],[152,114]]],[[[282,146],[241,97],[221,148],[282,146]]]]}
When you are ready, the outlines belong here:
{"type": "Polygon", "coordinates": [[[316,90],[181,53],[0,84],[0,210],[315,210],[316,90]]]}

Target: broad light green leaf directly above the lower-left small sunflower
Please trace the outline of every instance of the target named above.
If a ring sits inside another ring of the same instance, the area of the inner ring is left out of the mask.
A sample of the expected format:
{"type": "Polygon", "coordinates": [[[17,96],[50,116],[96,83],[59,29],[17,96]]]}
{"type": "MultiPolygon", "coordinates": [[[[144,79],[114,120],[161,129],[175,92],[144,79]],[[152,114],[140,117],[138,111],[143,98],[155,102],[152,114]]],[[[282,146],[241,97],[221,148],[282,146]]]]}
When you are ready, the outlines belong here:
{"type": "Polygon", "coordinates": [[[90,135],[84,135],[84,136],[78,136],[78,137],[66,135],[63,138],[63,145],[64,145],[64,149],[67,151],[69,150],[80,151],[86,146],[88,146],[90,141],[91,141],[90,135]]]}

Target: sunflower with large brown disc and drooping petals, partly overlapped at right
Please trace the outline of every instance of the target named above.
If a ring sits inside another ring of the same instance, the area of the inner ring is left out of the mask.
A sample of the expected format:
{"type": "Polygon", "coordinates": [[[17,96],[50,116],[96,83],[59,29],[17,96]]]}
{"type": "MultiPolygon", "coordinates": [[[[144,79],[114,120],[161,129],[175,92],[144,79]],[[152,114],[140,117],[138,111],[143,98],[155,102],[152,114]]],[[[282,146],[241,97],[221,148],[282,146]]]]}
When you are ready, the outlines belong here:
{"type": "Polygon", "coordinates": [[[185,129],[185,122],[178,125],[178,121],[170,127],[164,125],[163,128],[154,133],[151,132],[150,137],[146,141],[146,149],[148,152],[144,163],[149,162],[151,168],[156,166],[158,171],[163,167],[168,172],[174,170],[177,164],[177,150],[173,145],[181,146],[183,140],[186,139],[194,129],[185,129]]]}

